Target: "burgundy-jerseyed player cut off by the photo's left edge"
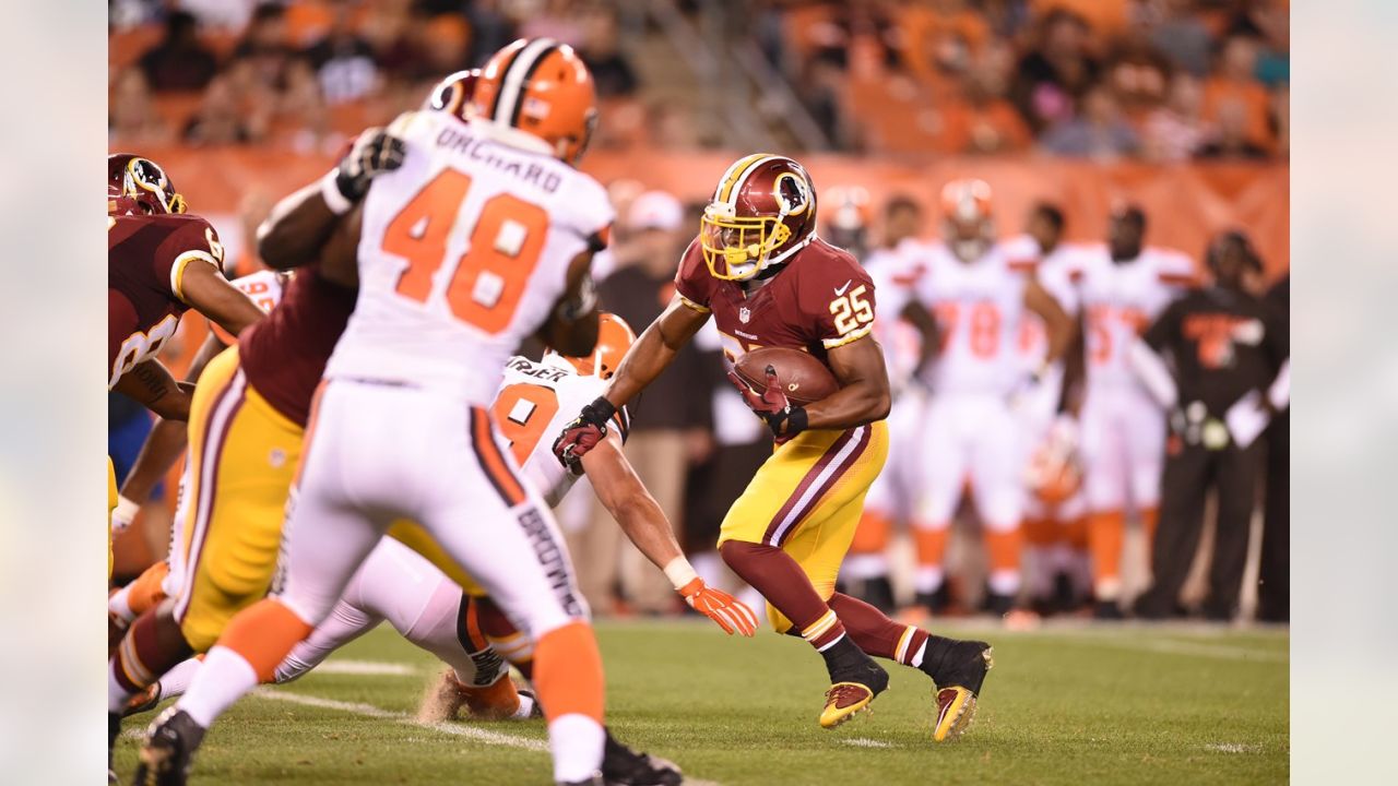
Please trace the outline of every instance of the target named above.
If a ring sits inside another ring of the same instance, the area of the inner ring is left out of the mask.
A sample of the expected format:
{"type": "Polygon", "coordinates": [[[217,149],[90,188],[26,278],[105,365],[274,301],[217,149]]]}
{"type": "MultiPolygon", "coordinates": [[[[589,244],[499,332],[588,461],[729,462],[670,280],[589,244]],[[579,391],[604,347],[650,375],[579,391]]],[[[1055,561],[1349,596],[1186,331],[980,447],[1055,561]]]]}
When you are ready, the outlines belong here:
{"type": "MultiPolygon", "coordinates": [[[[129,152],[106,157],[106,389],[161,417],[189,417],[190,389],[155,355],[190,308],[233,336],[261,312],[224,278],[218,232],[186,213],[165,169],[129,152]],[[194,263],[194,264],[190,264],[194,263]]],[[[108,513],[117,505],[116,467],[106,463],[108,513]]],[[[108,529],[106,573],[112,578],[108,529]]]]}

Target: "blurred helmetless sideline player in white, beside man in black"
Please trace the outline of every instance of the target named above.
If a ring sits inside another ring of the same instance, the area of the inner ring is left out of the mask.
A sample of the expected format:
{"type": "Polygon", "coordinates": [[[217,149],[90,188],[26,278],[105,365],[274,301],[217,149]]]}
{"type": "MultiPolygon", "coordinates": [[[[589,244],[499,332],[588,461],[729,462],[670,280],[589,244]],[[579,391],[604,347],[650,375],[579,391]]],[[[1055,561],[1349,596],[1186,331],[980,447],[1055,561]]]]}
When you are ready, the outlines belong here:
{"type": "Polygon", "coordinates": [[[1106,248],[1074,266],[1085,319],[1082,457],[1095,614],[1121,617],[1121,548],[1127,512],[1155,537],[1165,462],[1165,410],[1141,385],[1128,348],[1198,277],[1188,256],[1145,245],[1145,213],[1111,214],[1106,248]]]}

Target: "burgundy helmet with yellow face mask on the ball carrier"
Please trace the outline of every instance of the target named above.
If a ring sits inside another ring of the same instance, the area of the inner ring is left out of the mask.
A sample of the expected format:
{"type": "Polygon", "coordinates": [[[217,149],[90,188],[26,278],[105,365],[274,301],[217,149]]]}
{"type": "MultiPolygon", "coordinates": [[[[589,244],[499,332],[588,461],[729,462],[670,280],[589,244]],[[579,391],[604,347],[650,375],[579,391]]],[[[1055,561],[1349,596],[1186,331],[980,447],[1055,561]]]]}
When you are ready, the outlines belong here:
{"type": "Polygon", "coordinates": [[[755,154],[723,173],[699,220],[699,248],[714,278],[747,281],[815,239],[815,185],[784,155],[755,154]]]}

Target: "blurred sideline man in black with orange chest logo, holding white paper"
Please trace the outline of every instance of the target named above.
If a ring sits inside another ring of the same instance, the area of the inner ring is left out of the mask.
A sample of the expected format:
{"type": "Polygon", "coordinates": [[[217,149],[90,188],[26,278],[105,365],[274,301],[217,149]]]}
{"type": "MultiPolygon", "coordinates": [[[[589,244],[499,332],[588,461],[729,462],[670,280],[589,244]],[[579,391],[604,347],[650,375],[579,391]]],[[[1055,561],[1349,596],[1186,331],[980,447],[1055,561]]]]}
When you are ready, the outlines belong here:
{"type": "Polygon", "coordinates": [[[1278,400],[1268,387],[1290,354],[1285,324],[1244,287],[1262,269],[1248,239],[1225,232],[1206,256],[1213,285],[1172,303],[1130,350],[1142,383],[1172,410],[1153,582],[1137,601],[1145,618],[1176,613],[1211,491],[1218,522],[1204,614],[1229,621],[1237,613],[1262,459],[1257,438],[1278,400]]]}

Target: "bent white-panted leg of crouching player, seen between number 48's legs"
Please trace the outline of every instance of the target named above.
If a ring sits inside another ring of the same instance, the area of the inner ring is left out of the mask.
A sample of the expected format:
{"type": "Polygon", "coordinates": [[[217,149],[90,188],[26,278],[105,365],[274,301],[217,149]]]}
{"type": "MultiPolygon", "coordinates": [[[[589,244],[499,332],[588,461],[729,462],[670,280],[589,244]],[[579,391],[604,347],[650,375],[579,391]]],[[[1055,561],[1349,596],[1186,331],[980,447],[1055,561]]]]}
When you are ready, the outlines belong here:
{"type": "Polygon", "coordinates": [[[379,541],[345,600],[387,620],[403,638],[438,656],[466,684],[489,685],[509,671],[489,648],[473,657],[474,648],[461,629],[461,587],[397,540],[379,541]]]}

